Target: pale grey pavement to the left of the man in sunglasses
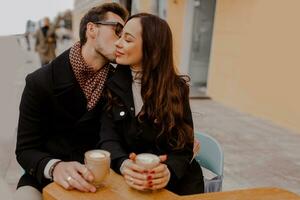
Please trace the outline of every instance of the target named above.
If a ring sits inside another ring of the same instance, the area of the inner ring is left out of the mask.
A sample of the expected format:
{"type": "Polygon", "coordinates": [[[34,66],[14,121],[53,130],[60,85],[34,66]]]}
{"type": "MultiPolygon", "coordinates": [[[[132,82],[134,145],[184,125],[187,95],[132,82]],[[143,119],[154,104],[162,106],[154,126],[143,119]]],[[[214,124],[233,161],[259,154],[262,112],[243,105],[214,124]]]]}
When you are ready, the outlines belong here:
{"type": "MultiPolygon", "coordinates": [[[[69,46],[67,41],[58,43],[57,53],[69,46]]],[[[0,194],[9,200],[22,173],[14,153],[20,98],[26,75],[39,68],[40,61],[34,51],[26,51],[25,40],[19,35],[0,37],[0,51],[0,194]]]]}

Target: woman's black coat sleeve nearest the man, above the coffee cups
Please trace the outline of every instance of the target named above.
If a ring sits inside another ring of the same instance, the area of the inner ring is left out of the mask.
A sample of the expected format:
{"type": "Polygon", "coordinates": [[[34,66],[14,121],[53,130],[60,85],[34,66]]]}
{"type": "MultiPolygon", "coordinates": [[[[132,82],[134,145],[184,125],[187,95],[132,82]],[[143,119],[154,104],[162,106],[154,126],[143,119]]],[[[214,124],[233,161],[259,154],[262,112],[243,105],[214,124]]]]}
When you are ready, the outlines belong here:
{"type": "Polygon", "coordinates": [[[110,112],[104,110],[101,117],[99,147],[110,152],[111,168],[120,174],[120,167],[123,161],[128,159],[128,153],[122,145],[122,138],[118,134],[116,126],[116,123],[110,116],[110,112]]]}

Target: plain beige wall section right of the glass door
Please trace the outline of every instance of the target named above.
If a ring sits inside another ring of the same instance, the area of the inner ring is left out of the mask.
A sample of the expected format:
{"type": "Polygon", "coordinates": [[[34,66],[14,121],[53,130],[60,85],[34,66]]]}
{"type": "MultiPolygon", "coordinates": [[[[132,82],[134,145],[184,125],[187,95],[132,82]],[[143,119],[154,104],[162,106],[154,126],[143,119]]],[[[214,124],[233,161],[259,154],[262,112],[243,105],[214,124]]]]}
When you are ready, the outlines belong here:
{"type": "Polygon", "coordinates": [[[218,0],[208,95],[300,133],[299,8],[299,0],[218,0]]]}

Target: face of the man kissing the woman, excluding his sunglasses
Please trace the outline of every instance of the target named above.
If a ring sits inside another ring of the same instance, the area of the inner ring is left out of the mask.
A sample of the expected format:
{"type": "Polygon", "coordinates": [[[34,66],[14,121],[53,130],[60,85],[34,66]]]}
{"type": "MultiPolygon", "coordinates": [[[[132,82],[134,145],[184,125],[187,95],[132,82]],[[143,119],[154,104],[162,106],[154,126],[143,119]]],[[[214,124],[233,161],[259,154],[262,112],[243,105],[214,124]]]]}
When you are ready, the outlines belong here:
{"type": "MultiPolygon", "coordinates": [[[[124,21],[122,20],[122,18],[112,12],[108,12],[106,14],[106,18],[103,21],[119,22],[120,24],[124,25],[124,21]]],[[[114,43],[119,39],[119,36],[115,33],[116,26],[102,24],[95,24],[95,26],[97,26],[93,42],[95,51],[110,62],[115,62],[116,46],[114,45],[114,43]]]]}

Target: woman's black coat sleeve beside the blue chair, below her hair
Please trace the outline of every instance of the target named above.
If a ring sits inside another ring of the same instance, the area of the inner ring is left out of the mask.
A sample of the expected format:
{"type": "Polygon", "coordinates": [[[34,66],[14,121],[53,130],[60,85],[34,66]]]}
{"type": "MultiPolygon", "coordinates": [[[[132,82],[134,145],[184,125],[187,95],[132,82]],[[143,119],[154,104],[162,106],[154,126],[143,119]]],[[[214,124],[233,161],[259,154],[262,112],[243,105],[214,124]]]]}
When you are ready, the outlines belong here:
{"type": "MultiPolygon", "coordinates": [[[[193,119],[188,97],[184,100],[184,122],[193,129],[193,119]]],[[[184,176],[192,157],[193,143],[188,143],[183,149],[168,153],[168,159],[165,163],[171,172],[171,180],[176,181],[184,176]]]]}

